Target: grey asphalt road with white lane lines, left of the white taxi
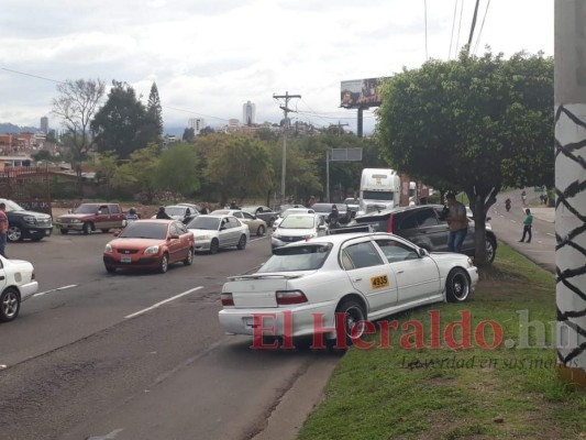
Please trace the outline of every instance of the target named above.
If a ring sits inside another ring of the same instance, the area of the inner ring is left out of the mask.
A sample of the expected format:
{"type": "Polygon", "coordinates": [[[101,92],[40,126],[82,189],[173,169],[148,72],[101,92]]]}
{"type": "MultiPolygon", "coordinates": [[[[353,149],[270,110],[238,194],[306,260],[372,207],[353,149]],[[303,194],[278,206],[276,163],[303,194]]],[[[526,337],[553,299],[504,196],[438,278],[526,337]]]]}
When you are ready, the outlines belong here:
{"type": "Polygon", "coordinates": [[[110,239],[9,245],[35,264],[42,295],[0,326],[0,437],[295,438],[340,355],[252,351],[217,318],[225,277],[265,261],[267,238],[164,275],[107,274],[110,239]]]}

